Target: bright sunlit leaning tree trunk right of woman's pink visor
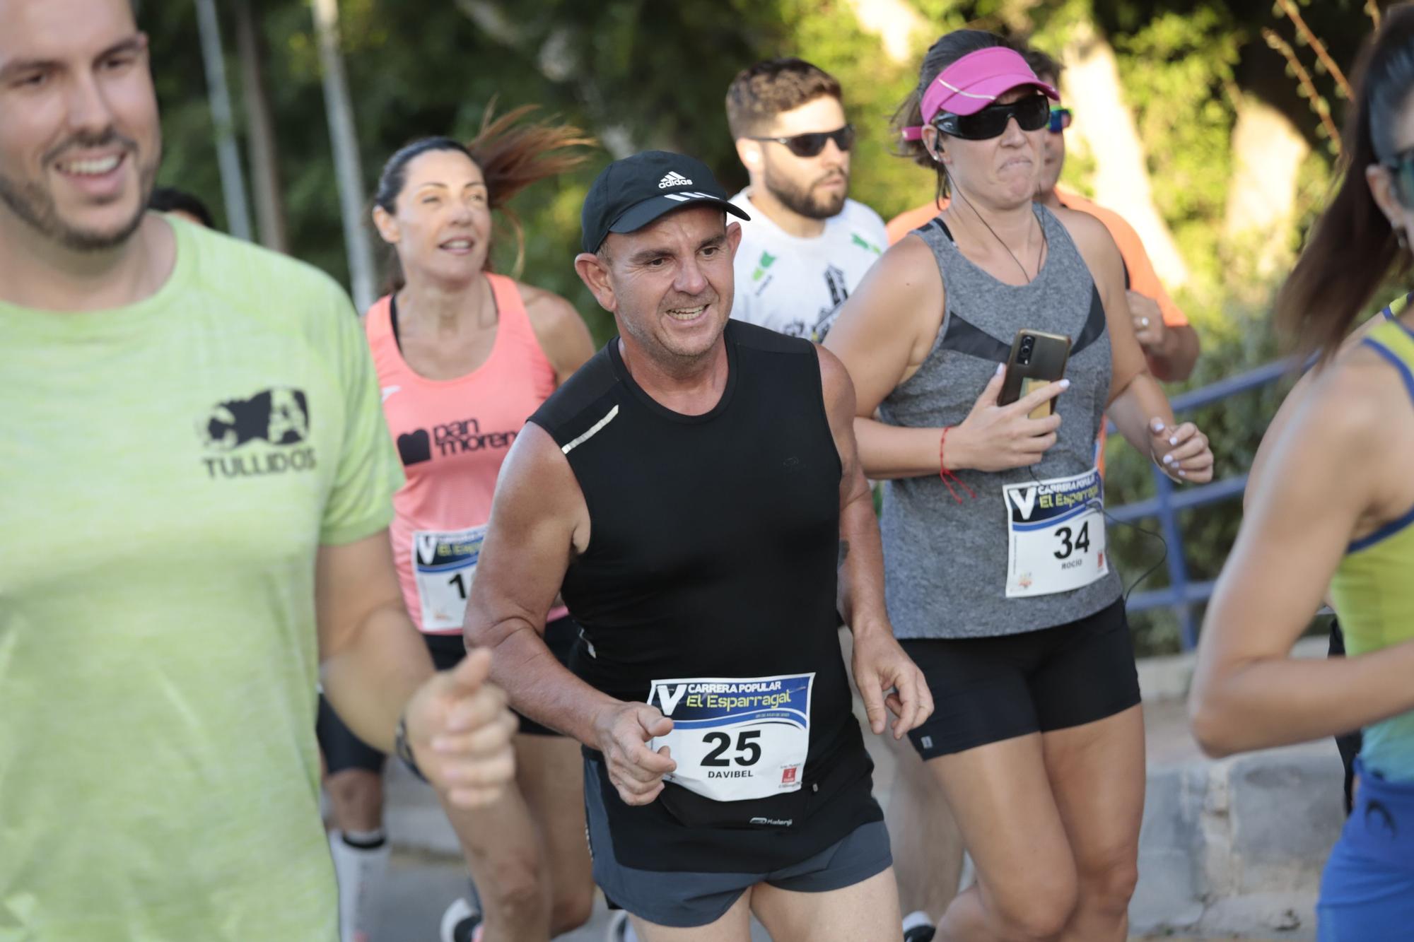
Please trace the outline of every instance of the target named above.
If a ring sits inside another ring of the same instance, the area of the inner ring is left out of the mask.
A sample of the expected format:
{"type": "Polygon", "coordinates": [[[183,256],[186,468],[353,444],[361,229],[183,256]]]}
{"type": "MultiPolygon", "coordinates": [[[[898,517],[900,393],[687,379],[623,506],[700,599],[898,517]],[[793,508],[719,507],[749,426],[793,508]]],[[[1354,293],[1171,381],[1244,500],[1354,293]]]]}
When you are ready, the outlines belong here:
{"type": "Polygon", "coordinates": [[[1062,62],[1065,98],[1077,102],[1082,115],[1075,133],[1086,140],[1096,161],[1094,201],[1134,226],[1154,270],[1168,287],[1179,287],[1188,281],[1188,263],[1154,207],[1144,144],[1124,103],[1114,50],[1092,25],[1082,24],[1076,25],[1062,62]]]}

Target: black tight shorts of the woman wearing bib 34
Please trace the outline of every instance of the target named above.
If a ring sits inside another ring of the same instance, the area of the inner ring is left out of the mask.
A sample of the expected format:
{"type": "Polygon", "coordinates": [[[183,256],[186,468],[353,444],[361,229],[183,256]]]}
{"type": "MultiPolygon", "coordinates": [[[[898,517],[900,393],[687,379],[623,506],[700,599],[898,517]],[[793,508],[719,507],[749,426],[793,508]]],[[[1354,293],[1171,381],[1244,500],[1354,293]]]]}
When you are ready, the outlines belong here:
{"type": "Polygon", "coordinates": [[[994,638],[904,639],[933,714],[909,733],[925,760],[1085,726],[1140,702],[1124,601],[1055,628],[994,638]]]}

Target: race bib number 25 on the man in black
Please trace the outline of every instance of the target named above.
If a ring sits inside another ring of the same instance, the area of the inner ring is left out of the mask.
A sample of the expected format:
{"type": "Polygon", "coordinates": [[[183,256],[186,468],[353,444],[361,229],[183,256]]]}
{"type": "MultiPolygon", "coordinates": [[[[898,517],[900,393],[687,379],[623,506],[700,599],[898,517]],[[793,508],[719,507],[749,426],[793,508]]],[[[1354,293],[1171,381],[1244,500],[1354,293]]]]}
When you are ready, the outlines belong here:
{"type": "Polygon", "coordinates": [[[669,747],[667,781],[717,802],[799,791],[813,686],[814,673],[655,680],[648,702],[673,731],[648,747],[669,747]]]}

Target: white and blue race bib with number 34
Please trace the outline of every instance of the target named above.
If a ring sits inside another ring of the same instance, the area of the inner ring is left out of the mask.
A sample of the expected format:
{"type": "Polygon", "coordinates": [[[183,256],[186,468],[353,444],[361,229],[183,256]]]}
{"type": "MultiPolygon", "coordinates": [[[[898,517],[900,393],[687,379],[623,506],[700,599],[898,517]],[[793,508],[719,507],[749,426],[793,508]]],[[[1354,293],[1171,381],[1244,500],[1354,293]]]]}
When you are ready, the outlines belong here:
{"type": "Polygon", "coordinates": [[[1092,468],[1003,488],[1007,598],[1082,588],[1110,571],[1104,557],[1104,478],[1092,468]]]}

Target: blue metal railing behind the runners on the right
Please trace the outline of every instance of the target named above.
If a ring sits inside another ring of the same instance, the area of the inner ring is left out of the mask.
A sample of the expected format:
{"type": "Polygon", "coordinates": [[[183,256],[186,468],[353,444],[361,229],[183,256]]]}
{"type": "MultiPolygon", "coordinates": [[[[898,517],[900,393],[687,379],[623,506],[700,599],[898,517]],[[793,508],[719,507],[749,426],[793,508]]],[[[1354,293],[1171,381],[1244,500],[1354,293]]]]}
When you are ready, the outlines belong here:
{"type": "MultiPolygon", "coordinates": [[[[1260,389],[1273,383],[1292,371],[1295,361],[1284,359],[1258,366],[1237,376],[1229,376],[1209,386],[1189,390],[1171,400],[1175,416],[1202,406],[1210,406],[1229,396],[1260,389]]],[[[1114,433],[1114,423],[1110,423],[1114,433]]],[[[1198,644],[1198,624],[1193,620],[1193,605],[1208,601],[1213,594],[1213,581],[1192,581],[1188,577],[1188,562],[1184,554],[1184,535],[1178,528],[1178,512],[1195,506],[1205,506],[1222,501],[1240,498],[1247,487],[1247,475],[1239,474],[1222,481],[1213,481],[1196,488],[1176,488],[1158,468],[1151,468],[1154,474],[1154,496],[1145,501],[1135,501],[1124,506],[1111,508],[1110,516],[1121,523],[1133,523],[1140,519],[1158,518],[1159,533],[1168,543],[1168,588],[1135,593],[1130,595],[1130,611],[1145,611],[1150,608],[1172,608],[1178,612],[1178,628],[1184,651],[1192,651],[1198,644]]]]}

